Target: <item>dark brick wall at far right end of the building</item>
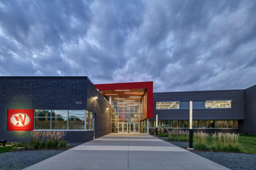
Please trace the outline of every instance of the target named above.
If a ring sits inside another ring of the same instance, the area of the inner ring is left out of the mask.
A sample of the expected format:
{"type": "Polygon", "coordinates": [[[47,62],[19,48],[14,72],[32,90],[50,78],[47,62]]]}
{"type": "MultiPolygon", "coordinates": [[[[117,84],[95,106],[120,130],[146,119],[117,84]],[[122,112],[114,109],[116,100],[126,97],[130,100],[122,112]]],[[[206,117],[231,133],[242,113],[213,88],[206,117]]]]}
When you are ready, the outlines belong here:
{"type": "Polygon", "coordinates": [[[245,118],[241,133],[247,131],[248,134],[256,135],[256,85],[244,90],[245,98],[245,118]]]}

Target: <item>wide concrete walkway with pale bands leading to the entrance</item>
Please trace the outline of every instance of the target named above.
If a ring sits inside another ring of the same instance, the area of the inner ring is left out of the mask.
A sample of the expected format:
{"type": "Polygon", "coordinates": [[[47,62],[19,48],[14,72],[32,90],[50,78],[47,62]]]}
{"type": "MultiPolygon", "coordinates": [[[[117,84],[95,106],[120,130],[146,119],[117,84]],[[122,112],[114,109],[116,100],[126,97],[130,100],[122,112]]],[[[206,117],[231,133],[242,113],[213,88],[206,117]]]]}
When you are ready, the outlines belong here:
{"type": "Polygon", "coordinates": [[[25,168],[25,170],[34,169],[227,170],[228,168],[151,135],[111,133],[25,168]]]}

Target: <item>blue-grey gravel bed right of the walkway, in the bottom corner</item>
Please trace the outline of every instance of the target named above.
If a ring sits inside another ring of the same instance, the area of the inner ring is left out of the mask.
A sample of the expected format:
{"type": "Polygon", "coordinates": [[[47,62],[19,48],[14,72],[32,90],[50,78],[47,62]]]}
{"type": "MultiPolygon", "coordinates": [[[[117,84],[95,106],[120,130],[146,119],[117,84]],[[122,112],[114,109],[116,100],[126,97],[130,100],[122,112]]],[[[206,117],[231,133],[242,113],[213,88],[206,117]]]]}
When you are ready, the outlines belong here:
{"type": "Polygon", "coordinates": [[[206,159],[216,162],[232,170],[255,170],[256,155],[249,153],[196,152],[206,159]]]}

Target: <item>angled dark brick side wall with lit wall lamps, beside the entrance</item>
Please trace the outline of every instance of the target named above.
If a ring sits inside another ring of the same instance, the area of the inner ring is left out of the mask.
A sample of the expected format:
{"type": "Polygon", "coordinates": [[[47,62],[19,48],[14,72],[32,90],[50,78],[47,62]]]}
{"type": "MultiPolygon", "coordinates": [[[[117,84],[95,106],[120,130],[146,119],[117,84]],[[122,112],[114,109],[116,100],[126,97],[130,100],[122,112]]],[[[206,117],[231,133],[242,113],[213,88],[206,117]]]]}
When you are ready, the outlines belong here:
{"type": "Polygon", "coordinates": [[[87,83],[87,110],[96,113],[95,138],[109,134],[111,132],[111,105],[90,81],[87,83]]]}

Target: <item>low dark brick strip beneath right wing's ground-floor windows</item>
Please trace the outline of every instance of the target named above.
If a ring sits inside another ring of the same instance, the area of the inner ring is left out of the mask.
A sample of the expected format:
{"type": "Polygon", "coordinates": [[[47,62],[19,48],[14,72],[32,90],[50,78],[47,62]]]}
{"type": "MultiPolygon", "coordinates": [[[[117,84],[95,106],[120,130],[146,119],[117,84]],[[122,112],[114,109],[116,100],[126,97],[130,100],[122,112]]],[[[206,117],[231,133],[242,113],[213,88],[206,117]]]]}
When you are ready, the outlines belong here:
{"type": "MultiPolygon", "coordinates": [[[[169,131],[171,131],[172,129],[174,128],[168,128],[169,131]]],[[[177,130],[189,130],[189,128],[175,128],[177,130]]],[[[156,132],[156,128],[149,128],[149,133],[151,131],[154,131],[156,132]]],[[[166,128],[163,128],[164,130],[164,133],[166,133],[167,129],[166,128]]],[[[230,132],[230,133],[238,133],[238,130],[239,129],[214,129],[214,128],[193,128],[193,132],[197,132],[197,131],[203,131],[203,132],[207,132],[207,133],[215,133],[216,132],[230,132]]],[[[158,132],[159,132],[159,129],[158,129],[158,132]]]]}

